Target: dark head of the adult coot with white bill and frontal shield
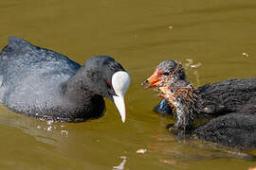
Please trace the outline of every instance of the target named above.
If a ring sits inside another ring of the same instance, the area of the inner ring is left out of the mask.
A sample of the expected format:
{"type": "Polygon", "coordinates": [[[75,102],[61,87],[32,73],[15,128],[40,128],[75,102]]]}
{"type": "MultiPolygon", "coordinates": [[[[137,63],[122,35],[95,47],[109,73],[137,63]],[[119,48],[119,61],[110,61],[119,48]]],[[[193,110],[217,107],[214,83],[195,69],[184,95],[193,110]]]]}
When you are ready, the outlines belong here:
{"type": "Polygon", "coordinates": [[[112,100],[117,106],[122,122],[126,111],[124,95],[130,85],[130,76],[119,62],[108,56],[93,57],[84,64],[86,76],[90,79],[90,89],[112,100]]]}

